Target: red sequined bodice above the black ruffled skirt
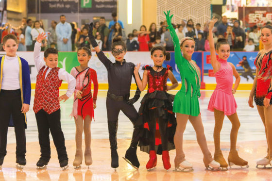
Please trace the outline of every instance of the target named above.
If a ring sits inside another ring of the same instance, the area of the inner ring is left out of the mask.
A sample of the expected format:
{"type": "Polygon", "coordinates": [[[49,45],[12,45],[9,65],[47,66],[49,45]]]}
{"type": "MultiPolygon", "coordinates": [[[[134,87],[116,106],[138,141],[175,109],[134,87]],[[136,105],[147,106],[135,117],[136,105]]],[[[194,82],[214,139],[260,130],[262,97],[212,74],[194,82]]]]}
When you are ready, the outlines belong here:
{"type": "Polygon", "coordinates": [[[168,79],[168,69],[163,68],[161,71],[156,72],[152,67],[147,69],[147,79],[148,79],[148,92],[152,93],[156,90],[166,91],[167,79],[168,79]]]}

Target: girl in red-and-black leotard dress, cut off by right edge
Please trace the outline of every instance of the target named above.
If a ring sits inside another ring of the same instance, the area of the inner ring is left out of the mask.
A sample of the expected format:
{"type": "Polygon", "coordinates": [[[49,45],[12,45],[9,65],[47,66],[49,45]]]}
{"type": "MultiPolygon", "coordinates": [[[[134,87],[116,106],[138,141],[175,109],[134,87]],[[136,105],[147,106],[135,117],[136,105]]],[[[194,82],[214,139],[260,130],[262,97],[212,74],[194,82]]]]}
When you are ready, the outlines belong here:
{"type": "Polygon", "coordinates": [[[259,115],[265,126],[268,143],[267,156],[257,162],[257,168],[267,168],[272,165],[272,26],[266,25],[261,29],[261,49],[255,59],[256,76],[250,92],[248,104],[253,106],[253,97],[259,115]],[[259,167],[262,165],[263,167],[259,167]]]}

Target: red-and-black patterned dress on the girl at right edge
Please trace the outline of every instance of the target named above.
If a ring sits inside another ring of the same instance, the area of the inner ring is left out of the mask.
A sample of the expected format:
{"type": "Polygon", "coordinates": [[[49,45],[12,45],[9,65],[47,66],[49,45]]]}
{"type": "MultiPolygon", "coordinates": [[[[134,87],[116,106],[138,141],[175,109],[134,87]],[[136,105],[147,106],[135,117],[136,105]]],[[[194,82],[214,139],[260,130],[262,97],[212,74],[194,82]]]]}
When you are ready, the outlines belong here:
{"type": "Polygon", "coordinates": [[[254,100],[256,105],[263,106],[264,98],[270,99],[272,104],[272,50],[268,53],[263,53],[262,50],[255,59],[255,66],[259,69],[257,75],[256,88],[254,93],[254,100]]]}

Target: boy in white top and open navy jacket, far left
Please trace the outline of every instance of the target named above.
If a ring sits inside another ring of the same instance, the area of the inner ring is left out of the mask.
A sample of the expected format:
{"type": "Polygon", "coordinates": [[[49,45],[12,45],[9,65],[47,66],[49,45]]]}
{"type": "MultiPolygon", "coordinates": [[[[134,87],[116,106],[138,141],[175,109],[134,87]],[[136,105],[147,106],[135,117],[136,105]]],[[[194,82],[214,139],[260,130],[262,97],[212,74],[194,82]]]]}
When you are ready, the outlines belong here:
{"type": "Polygon", "coordinates": [[[6,54],[0,57],[0,167],[7,154],[7,133],[12,116],[16,163],[17,168],[22,169],[26,165],[26,112],[29,111],[31,97],[29,66],[25,59],[16,55],[18,40],[15,35],[4,36],[3,49],[6,54]]]}

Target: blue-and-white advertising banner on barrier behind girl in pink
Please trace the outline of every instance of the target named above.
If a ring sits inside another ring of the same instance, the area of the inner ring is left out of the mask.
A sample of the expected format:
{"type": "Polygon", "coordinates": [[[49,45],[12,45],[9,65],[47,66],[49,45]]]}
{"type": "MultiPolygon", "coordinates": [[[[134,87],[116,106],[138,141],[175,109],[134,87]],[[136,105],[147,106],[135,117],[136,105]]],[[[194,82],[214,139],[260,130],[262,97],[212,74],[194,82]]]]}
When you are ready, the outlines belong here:
{"type": "MultiPolygon", "coordinates": [[[[231,52],[228,62],[231,62],[240,73],[240,83],[253,83],[256,67],[254,65],[255,58],[258,52],[231,52]]],[[[216,83],[213,68],[210,62],[210,52],[203,53],[204,62],[204,82],[216,83]]]]}

